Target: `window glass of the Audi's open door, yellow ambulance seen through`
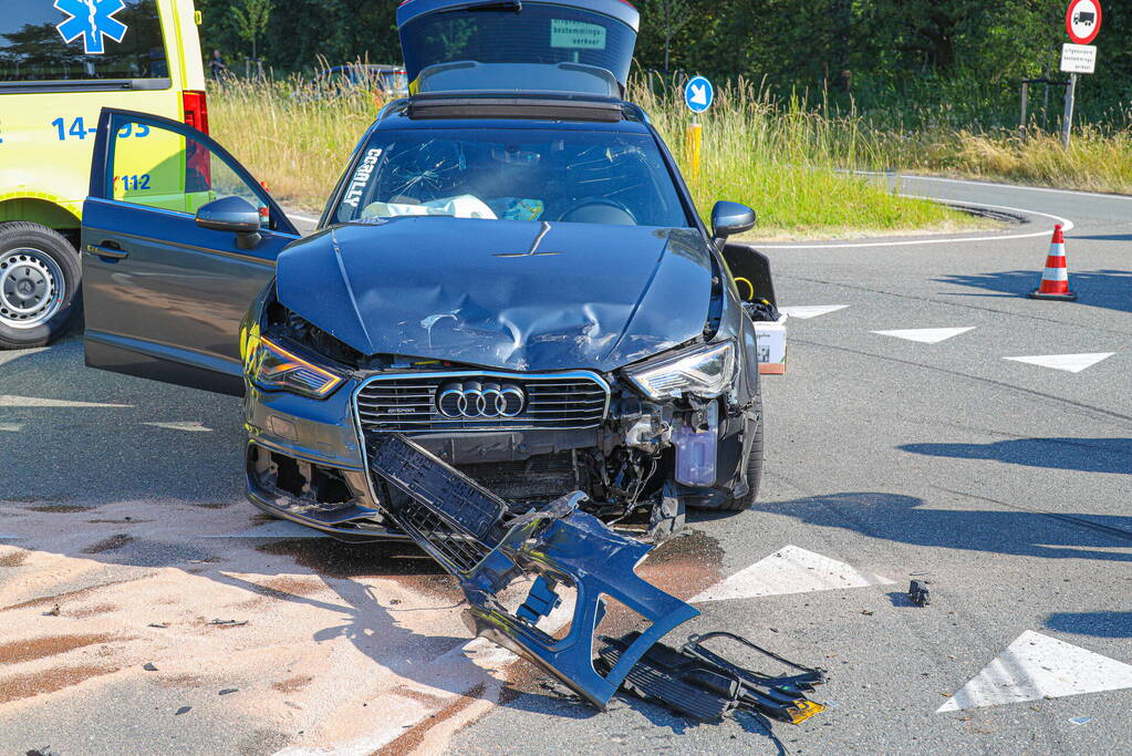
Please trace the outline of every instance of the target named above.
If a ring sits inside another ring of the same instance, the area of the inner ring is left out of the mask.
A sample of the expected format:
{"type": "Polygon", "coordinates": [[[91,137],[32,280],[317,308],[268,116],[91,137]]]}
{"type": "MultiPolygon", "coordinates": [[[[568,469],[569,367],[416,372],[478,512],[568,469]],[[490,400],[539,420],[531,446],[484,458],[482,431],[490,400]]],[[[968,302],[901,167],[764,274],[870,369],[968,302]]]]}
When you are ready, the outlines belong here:
{"type": "Polygon", "coordinates": [[[226,154],[211,149],[187,129],[173,130],[115,114],[110,124],[112,199],[175,213],[195,214],[207,203],[242,197],[271,218],[266,192],[226,154]]]}

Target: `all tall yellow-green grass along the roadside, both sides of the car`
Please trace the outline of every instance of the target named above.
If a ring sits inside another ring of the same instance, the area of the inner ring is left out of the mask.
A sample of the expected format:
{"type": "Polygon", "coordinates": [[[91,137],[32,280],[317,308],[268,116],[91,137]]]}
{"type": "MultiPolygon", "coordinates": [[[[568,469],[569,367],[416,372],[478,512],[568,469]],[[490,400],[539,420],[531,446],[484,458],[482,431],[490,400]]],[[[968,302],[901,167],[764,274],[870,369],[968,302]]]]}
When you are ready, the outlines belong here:
{"type": "MultiPolygon", "coordinates": [[[[915,119],[915,129],[891,114],[838,114],[823,101],[778,100],[741,80],[722,87],[701,117],[703,153],[695,174],[687,149],[692,114],[675,84],[654,91],[637,80],[628,98],[649,113],[680,162],[701,214],[706,216],[717,199],[746,203],[760,214],[761,238],[974,223],[933,203],[895,196],[847,169],[1132,192],[1126,128],[1079,129],[1065,151],[1054,136],[1022,139],[1013,131],[961,129],[924,114],[915,119]]],[[[379,106],[367,93],[317,93],[298,78],[229,83],[215,87],[209,100],[220,141],[275,196],[308,211],[321,208],[379,106]]]]}

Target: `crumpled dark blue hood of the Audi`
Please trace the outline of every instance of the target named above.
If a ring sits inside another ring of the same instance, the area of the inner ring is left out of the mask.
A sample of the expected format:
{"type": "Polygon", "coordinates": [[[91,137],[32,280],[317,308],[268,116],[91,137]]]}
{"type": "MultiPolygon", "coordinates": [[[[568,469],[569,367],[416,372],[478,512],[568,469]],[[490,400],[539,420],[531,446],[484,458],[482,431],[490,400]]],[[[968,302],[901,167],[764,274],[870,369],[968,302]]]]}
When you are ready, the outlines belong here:
{"type": "Polygon", "coordinates": [[[703,332],[712,266],[693,229],[401,217],[278,257],[278,301],[366,354],[608,371],[703,332]]]}

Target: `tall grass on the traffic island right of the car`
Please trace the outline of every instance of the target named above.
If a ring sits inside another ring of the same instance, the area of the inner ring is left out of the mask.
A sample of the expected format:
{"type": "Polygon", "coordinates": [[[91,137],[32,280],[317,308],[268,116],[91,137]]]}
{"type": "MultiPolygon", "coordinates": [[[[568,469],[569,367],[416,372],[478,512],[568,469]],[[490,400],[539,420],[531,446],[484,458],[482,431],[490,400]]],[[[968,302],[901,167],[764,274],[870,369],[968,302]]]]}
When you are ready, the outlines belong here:
{"type": "Polygon", "coordinates": [[[842,169],[883,171],[884,154],[861,121],[807,108],[799,98],[775,102],[746,81],[724,86],[700,115],[698,178],[687,148],[692,114],[676,87],[658,96],[636,83],[628,98],[644,108],[681,163],[701,214],[717,199],[751,205],[760,216],[754,235],[841,235],[861,230],[903,231],[972,223],[945,207],[891,194],[883,183],[842,169]]]}

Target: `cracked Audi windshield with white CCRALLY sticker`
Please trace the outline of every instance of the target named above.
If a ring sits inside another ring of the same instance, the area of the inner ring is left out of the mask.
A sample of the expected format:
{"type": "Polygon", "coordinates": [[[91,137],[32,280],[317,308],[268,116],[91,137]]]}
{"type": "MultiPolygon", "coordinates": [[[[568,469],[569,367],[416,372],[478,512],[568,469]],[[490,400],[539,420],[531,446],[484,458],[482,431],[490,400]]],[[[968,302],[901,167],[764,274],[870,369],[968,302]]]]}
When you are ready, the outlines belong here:
{"type": "Polygon", "coordinates": [[[646,134],[375,131],[335,208],[338,223],[398,215],[691,225],[646,134]]]}

